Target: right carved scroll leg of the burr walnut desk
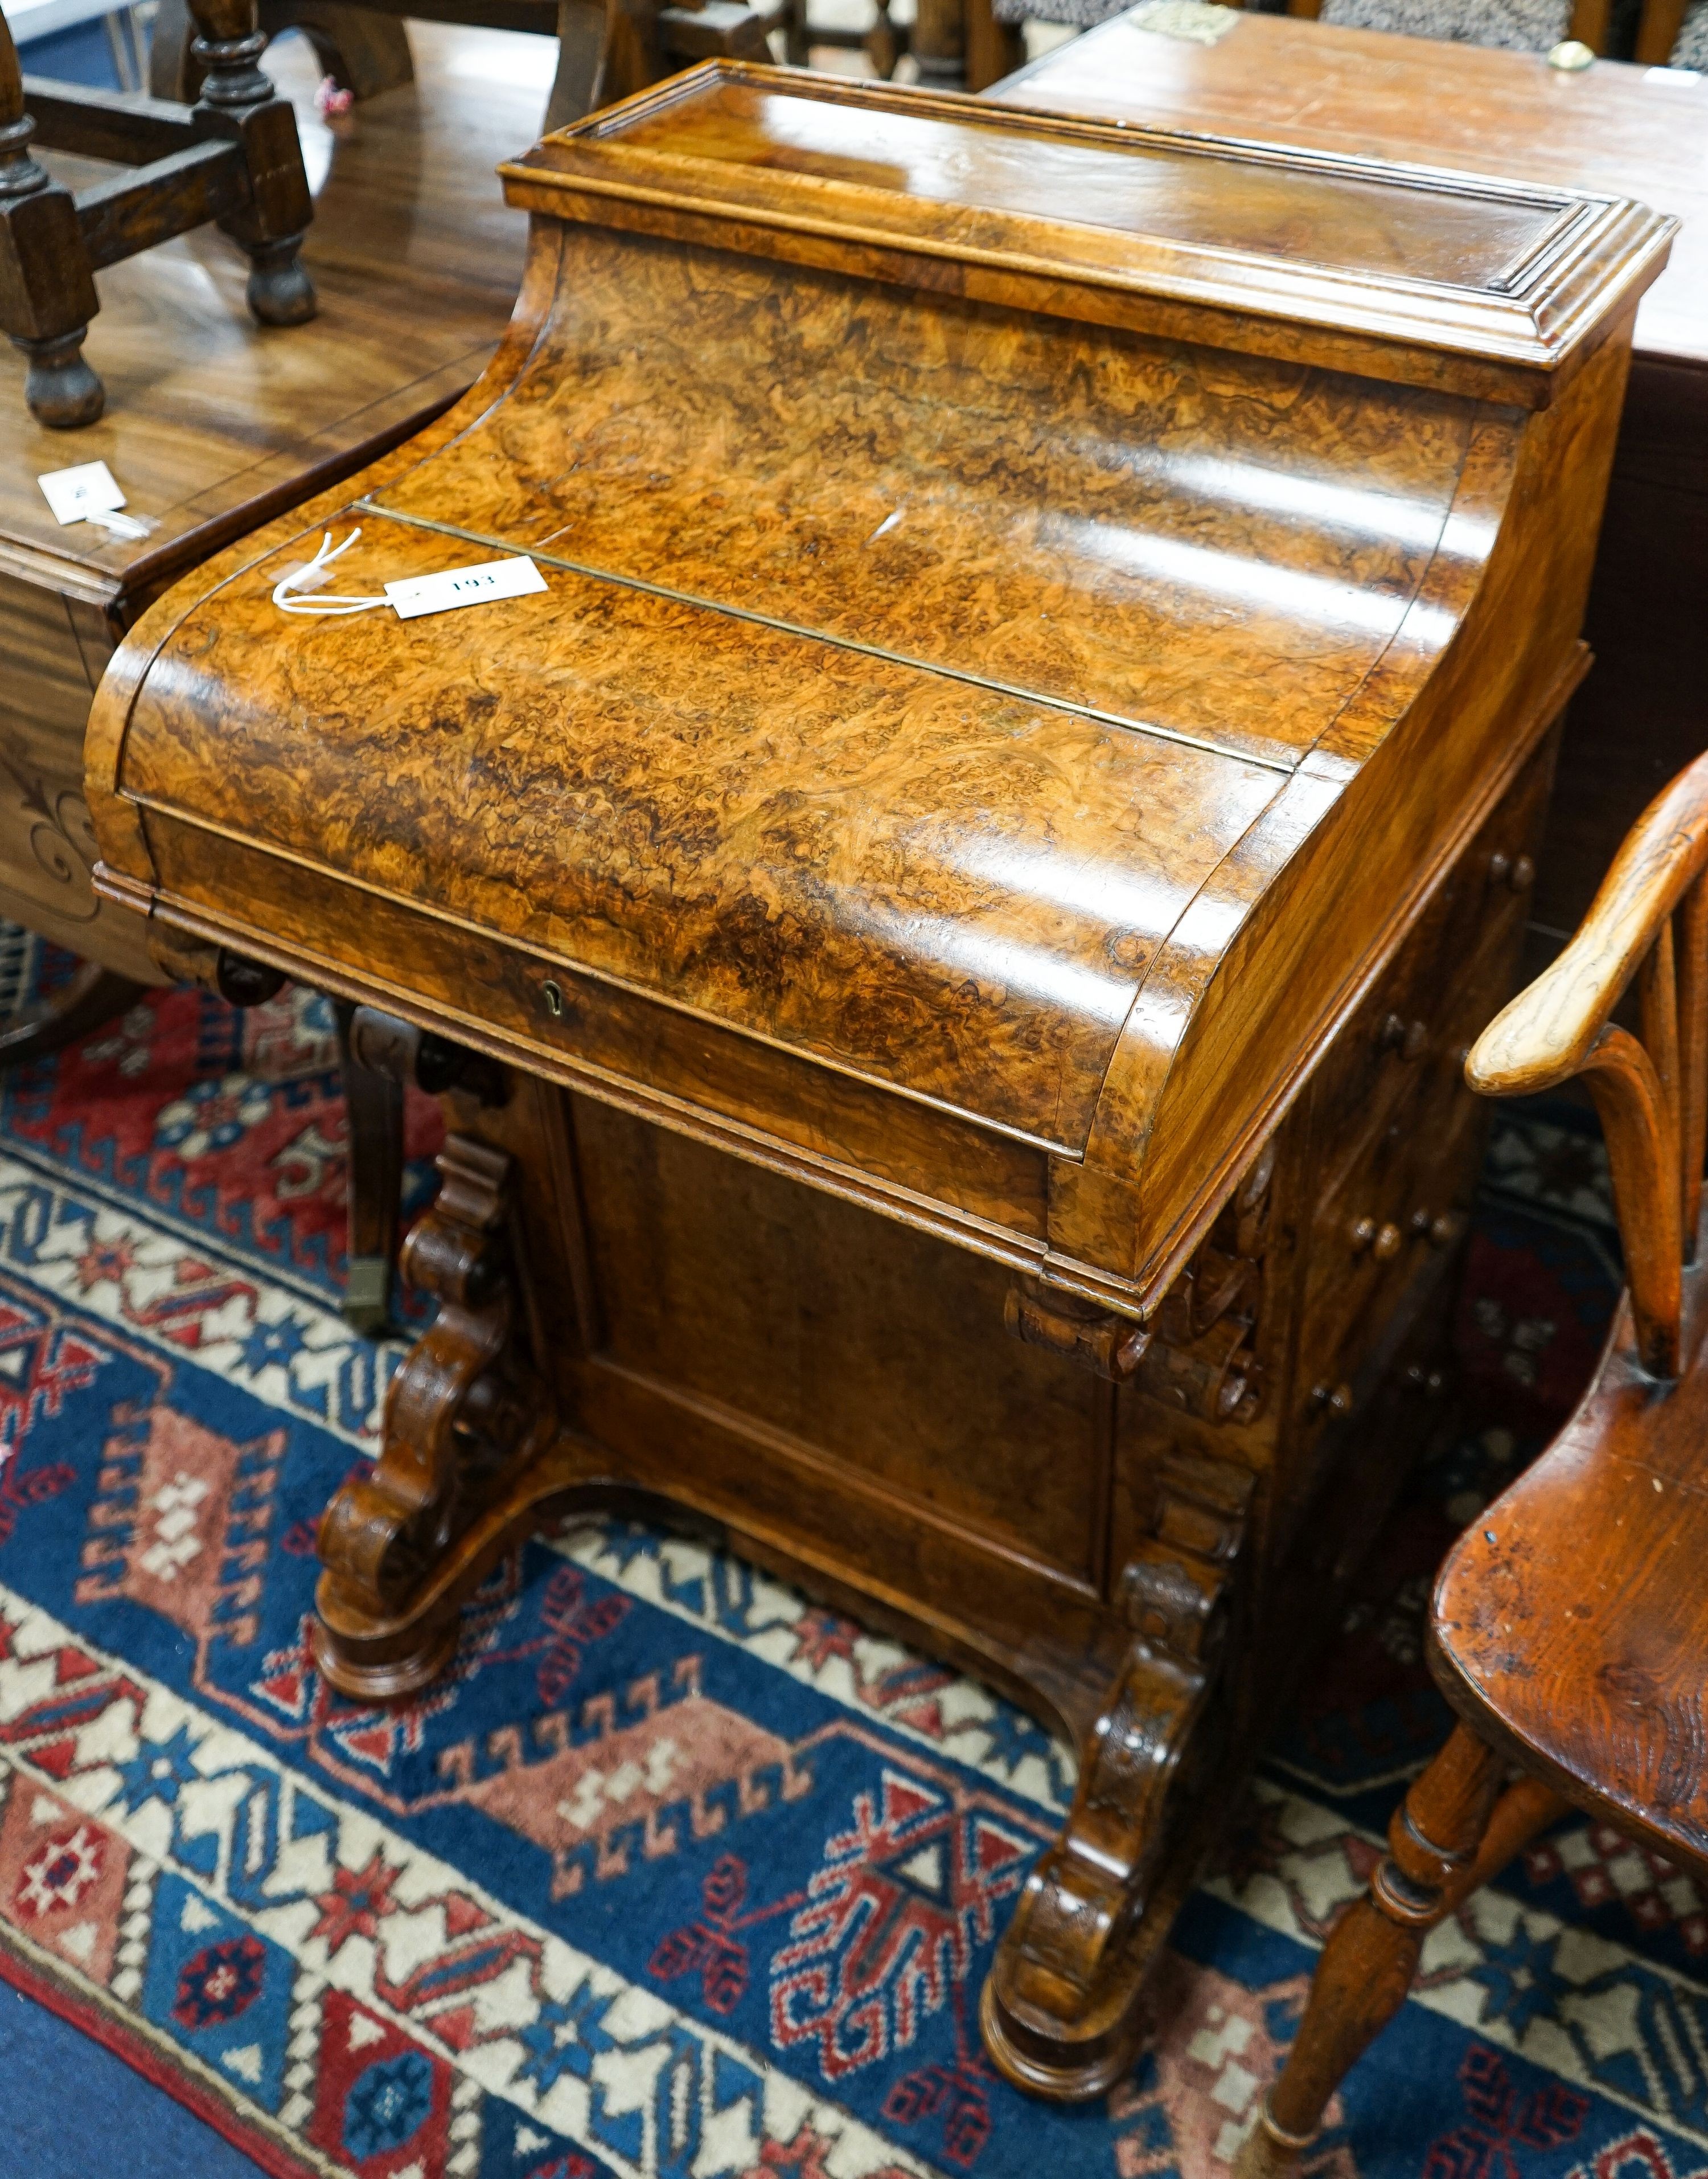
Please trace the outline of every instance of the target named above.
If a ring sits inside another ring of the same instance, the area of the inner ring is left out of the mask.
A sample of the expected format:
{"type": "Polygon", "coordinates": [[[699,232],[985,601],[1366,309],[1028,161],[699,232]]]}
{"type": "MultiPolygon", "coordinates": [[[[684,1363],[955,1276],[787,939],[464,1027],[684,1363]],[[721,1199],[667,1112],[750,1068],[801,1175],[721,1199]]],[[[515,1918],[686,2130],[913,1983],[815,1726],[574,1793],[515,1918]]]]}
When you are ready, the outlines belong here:
{"type": "Polygon", "coordinates": [[[1089,2096],[1128,2064],[1139,1972],[1128,1937],[1216,1754],[1207,1711],[1253,1477],[1170,1453],[1152,1532],[1122,1569],[1133,1641],[1083,1750],[1068,1826],[1033,1870],[980,2007],[1002,2072],[1089,2096]]]}

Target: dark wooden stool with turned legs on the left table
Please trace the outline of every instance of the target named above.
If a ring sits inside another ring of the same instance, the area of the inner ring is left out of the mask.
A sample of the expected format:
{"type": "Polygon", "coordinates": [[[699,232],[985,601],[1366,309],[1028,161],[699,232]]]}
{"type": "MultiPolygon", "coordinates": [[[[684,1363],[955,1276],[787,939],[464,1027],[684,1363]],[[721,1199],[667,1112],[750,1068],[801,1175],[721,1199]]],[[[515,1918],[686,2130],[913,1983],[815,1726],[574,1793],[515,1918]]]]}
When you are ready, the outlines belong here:
{"type": "Polygon", "coordinates": [[[94,423],[107,405],[83,357],[102,266],[216,220],[248,253],[248,307],[261,325],[314,316],[296,255],[314,203],[296,115],[259,68],[255,0],[190,9],[203,65],[192,107],[37,76],[26,85],[0,15],[0,327],[30,360],[30,414],[57,431],[94,423]],[[120,172],[72,194],[30,157],[33,142],[111,159],[120,172]]]}

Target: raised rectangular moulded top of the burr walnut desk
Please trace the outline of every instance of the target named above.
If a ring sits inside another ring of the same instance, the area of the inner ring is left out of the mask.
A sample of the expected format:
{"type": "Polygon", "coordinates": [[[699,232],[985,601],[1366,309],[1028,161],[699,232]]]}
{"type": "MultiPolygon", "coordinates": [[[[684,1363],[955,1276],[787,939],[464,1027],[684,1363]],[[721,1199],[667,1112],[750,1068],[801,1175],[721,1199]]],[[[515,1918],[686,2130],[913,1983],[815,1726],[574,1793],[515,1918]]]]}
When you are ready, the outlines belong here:
{"type": "Polygon", "coordinates": [[[1677,227],[1588,190],[708,61],[512,203],[1542,407],[1677,227]],[[1065,207],[1072,207],[1068,211],[1065,207]]]}

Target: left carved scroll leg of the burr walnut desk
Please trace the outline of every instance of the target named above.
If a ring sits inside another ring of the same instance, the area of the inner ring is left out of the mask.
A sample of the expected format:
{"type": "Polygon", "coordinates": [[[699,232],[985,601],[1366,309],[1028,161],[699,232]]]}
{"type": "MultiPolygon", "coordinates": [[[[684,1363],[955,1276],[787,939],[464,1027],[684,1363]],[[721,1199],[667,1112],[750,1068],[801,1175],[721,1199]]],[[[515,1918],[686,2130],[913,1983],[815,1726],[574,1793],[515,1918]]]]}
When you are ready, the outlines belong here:
{"type": "MultiPolygon", "coordinates": [[[[383,1020],[383,1018],[381,1018],[383,1020]]],[[[457,1606],[532,1521],[558,1421],[529,1353],[512,1161],[468,1135],[403,1270],[440,1303],[386,1399],[379,1462],[320,1521],[316,1656],[346,1695],[412,1695],[449,1663],[457,1606]]]]}

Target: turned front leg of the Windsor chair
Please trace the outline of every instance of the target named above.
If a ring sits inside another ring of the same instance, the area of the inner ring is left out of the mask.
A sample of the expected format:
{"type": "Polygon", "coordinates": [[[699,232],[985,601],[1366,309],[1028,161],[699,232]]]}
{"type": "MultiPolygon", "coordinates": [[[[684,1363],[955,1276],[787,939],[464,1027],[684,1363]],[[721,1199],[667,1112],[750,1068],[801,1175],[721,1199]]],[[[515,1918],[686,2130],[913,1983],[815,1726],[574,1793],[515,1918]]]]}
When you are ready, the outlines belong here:
{"type": "Polygon", "coordinates": [[[1494,1750],[1455,1726],[1394,1811],[1370,1889],[1322,1946],[1305,2018],[1235,2179],[1277,2179],[1298,2164],[1329,2096],[1405,2003],[1429,1931],[1566,1809],[1534,1778],[1497,1802],[1499,1782],[1494,1750]]]}

